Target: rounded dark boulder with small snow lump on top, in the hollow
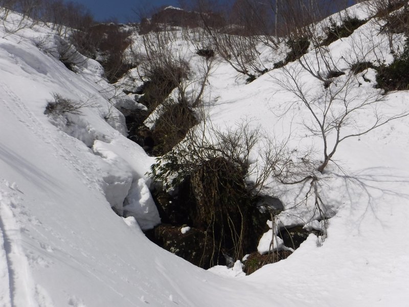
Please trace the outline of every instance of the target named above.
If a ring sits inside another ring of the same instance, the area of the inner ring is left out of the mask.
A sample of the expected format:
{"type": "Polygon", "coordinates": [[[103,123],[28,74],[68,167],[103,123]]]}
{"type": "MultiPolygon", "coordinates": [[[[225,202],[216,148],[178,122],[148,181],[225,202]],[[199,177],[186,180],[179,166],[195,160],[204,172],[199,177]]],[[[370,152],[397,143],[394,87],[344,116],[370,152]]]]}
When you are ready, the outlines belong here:
{"type": "Polygon", "coordinates": [[[209,269],[214,263],[223,263],[222,258],[215,259],[218,244],[203,230],[191,228],[183,234],[181,227],[162,224],[155,227],[153,240],[167,251],[203,269],[209,269]]]}

